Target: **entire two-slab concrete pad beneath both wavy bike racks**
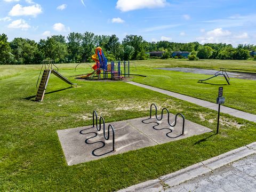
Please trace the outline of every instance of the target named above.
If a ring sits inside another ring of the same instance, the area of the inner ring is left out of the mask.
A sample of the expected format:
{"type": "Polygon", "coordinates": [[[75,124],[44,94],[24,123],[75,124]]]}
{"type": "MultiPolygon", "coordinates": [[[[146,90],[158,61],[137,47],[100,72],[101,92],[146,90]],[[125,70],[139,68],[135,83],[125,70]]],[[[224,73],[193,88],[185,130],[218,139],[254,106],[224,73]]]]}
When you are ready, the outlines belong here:
{"type": "MultiPolygon", "coordinates": [[[[171,121],[174,121],[175,116],[170,114],[170,117],[171,121]]],[[[173,127],[169,129],[170,125],[167,123],[167,115],[165,115],[164,119],[158,122],[159,125],[156,127],[156,129],[161,130],[153,129],[156,123],[150,122],[154,122],[156,120],[155,118],[145,121],[149,124],[142,123],[144,119],[148,119],[148,117],[106,123],[106,129],[108,124],[114,126],[115,151],[111,151],[113,149],[113,134],[111,131],[110,139],[106,141],[103,136],[103,130],[97,131],[96,127],[92,128],[92,126],[58,130],[57,133],[67,164],[74,165],[93,161],[110,155],[121,154],[126,151],[154,146],[212,131],[204,126],[185,120],[185,134],[181,135],[183,122],[181,118],[178,118],[177,125],[174,129],[173,127]],[[166,133],[169,133],[167,134],[168,137],[166,133]],[[103,146],[104,142],[106,143],[105,146],[103,146]]]]}

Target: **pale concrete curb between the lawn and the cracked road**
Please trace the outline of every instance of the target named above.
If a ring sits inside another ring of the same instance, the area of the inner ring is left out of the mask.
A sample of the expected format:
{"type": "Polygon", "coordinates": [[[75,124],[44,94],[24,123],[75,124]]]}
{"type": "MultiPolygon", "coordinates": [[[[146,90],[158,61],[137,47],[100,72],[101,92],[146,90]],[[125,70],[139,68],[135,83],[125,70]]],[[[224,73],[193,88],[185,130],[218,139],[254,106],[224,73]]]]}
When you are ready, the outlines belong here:
{"type": "Polygon", "coordinates": [[[119,190],[119,192],[132,191],[163,191],[166,186],[173,187],[180,183],[194,179],[200,175],[211,172],[219,167],[235,162],[246,156],[256,154],[256,142],[250,143],[227,153],[212,157],[203,162],[196,163],[174,173],[166,174],[158,179],[145,181],[137,185],[119,190]]]}

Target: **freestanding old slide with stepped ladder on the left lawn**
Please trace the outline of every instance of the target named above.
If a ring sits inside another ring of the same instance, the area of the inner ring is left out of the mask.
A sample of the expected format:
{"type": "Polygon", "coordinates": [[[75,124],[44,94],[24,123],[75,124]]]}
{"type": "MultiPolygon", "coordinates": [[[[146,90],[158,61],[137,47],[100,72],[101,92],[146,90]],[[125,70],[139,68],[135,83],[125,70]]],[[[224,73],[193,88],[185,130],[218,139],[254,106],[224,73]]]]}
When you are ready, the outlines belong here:
{"type": "Polygon", "coordinates": [[[54,65],[54,60],[43,60],[42,63],[43,64],[42,64],[40,74],[38,76],[37,83],[36,83],[36,87],[38,89],[37,94],[36,94],[36,101],[43,101],[45,90],[46,90],[46,87],[47,87],[47,84],[48,84],[51,73],[54,74],[55,76],[59,77],[62,81],[65,81],[67,84],[69,84],[71,86],[72,85],[77,85],[76,83],[70,82],[66,77],[62,76],[58,72],[59,68],[54,65]],[[57,70],[53,69],[53,67],[55,67],[57,70]],[[44,69],[44,72],[43,72],[43,75],[41,77],[43,69],[44,69]],[[41,81],[40,81],[40,84],[38,86],[40,77],[41,77],[41,81]]]}

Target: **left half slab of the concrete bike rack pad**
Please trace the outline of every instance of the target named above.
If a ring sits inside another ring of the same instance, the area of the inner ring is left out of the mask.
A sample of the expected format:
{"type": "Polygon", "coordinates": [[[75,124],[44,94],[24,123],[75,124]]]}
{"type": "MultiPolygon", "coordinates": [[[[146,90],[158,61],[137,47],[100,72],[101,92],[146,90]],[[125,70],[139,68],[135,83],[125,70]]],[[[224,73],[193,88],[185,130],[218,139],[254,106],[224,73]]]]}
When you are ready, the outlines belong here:
{"type": "MultiPolygon", "coordinates": [[[[106,124],[107,127],[108,124],[106,124]]],[[[85,143],[85,140],[94,136],[97,133],[96,127],[90,129],[92,126],[78,127],[75,129],[58,130],[59,139],[62,149],[64,151],[66,161],[68,165],[75,165],[78,163],[89,162],[99,158],[107,157],[110,155],[116,155],[124,153],[125,151],[140,149],[147,146],[157,145],[156,142],[146,137],[126,122],[114,122],[111,123],[115,129],[115,149],[116,151],[110,152],[112,149],[112,134],[110,139],[106,141],[106,146],[95,151],[94,156],[92,151],[102,146],[102,142],[105,141],[103,137],[103,131],[98,132],[98,136],[89,139],[88,142],[97,142],[92,145],[85,143]],[[82,134],[81,134],[82,133],[82,134]],[[107,154],[105,154],[107,153],[107,154]]]]}

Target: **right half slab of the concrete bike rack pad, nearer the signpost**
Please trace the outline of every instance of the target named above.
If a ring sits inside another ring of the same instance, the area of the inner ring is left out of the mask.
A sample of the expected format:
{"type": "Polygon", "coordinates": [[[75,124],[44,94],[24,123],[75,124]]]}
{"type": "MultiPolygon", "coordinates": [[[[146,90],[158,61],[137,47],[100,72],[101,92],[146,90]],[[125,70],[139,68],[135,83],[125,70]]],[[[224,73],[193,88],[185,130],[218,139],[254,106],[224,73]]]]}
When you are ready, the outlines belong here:
{"type": "MultiPolygon", "coordinates": [[[[157,119],[149,117],[137,118],[137,119],[130,119],[126,120],[126,122],[132,125],[135,129],[138,129],[142,133],[146,134],[149,138],[153,139],[158,144],[180,140],[184,138],[191,137],[193,135],[203,134],[207,132],[211,132],[212,130],[204,127],[202,125],[198,125],[196,123],[190,122],[185,119],[185,134],[181,135],[182,133],[182,123],[183,119],[181,117],[177,118],[177,125],[175,127],[170,127],[167,122],[167,115],[163,116],[162,121],[157,121],[157,119]],[[145,120],[145,123],[142,123],[142,120],[145,120]],[[155,129],[153,128],[154,125],[155,129]],[[166,135],[167,134],[167,135],[166,135]]],[[[175,115],[170,114],[170,123],[174,123],[175,115]]]]}

